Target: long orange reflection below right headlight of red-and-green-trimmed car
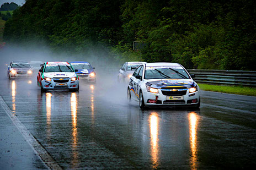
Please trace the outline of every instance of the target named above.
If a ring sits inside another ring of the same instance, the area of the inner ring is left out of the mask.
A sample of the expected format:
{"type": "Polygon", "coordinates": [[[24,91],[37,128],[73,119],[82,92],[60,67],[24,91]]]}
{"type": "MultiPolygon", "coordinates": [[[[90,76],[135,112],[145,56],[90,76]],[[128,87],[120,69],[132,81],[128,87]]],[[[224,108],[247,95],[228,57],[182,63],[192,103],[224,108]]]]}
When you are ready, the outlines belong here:
{"type": "Polygon", "coordinates": [[[73,136],[72,168],[75,168],[78,161],[78,152],[76,150],[76,147],[77,147],[77,95],[76,95],[76,92],[72,92],[71,94],[70,105],[71,105],[71,116],[72,116],[72,126],[73,126],[72,128],[72,136],[73,136]]]}

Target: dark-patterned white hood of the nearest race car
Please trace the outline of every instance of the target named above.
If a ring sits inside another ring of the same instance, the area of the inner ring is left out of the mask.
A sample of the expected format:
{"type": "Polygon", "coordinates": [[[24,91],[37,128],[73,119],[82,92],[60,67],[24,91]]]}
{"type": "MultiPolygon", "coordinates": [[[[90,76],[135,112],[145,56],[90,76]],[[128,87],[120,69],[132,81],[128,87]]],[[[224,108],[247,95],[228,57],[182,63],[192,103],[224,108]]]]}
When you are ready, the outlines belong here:
{"type": "Polygon", "coordinates": [[[168,86],[183,86],[186,88],[195,87],[196,83],[192,79],[169,79],[169,80],[147,80],[146,85],[156,89],[168,86]]]}

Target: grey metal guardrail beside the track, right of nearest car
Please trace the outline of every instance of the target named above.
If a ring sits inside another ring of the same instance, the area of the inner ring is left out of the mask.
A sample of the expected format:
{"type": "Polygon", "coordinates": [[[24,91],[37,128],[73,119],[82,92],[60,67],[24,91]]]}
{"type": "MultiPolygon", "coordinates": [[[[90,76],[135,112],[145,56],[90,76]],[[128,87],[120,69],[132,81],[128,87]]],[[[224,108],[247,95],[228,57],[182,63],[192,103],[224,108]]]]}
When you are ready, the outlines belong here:
{"type": "Polygon", "coordinates": [[[197,83],[256,87],[255,71],[188,69],[188,72],[195,74],[194,80],[197,83]]]}

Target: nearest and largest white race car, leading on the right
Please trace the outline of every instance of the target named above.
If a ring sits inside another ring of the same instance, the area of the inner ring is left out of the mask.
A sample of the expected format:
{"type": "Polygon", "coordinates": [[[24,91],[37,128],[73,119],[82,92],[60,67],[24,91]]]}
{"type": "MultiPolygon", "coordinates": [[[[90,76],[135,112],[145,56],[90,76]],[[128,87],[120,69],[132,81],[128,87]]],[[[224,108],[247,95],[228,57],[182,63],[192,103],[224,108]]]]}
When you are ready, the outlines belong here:
{"type": "Polygon", "coordinates": [[[186,69],[178,63],[146,63],[130,78],[127,97],[147,106],[200,107],[200,89],[186,69]]]}

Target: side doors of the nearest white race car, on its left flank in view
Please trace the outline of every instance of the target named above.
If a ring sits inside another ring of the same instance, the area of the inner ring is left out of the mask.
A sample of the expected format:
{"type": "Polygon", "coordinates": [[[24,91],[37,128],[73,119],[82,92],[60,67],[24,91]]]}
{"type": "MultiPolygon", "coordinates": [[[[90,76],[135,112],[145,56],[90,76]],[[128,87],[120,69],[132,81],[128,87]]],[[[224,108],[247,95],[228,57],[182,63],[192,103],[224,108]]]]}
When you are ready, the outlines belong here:
{"type": "Polygon", "coordinates": [[[135,70],[134,74],[130,78],[130,84],[132,85],[131,97],[134,98],[135,100],[138,100],[138,97],[139,97],[138,89],[140,89],[140,87],[138,87],[138,83],[140,83],[140,80],[137,79],[136,76],[139,75],[141,68],[142,68],[142,65],[135,70]]]}

